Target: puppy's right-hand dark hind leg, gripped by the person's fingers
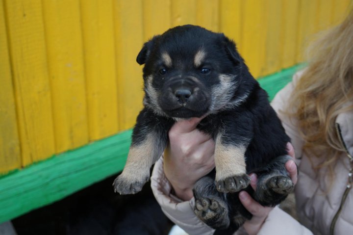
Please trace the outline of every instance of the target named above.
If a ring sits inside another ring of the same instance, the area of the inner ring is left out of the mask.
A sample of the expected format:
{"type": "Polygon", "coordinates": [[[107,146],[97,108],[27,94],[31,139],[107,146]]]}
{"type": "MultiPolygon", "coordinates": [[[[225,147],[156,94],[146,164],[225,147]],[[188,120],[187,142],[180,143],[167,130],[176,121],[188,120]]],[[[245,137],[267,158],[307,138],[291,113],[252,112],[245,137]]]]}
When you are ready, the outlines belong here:
{"type": "Polygon", "coordinates": [[[282,202],[294,189],[285,163],[292,159],[288,155],[276,157],[259,171],[255,200],[263,206],[275,206],[282,202]]]}

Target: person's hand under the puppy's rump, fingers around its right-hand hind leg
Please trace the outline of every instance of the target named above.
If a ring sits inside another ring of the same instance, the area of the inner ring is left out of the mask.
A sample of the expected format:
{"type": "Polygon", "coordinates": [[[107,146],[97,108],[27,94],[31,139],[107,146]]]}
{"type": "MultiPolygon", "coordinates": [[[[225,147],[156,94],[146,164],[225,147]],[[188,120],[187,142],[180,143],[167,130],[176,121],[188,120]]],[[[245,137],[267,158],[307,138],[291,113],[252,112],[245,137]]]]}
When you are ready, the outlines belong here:
{"type": "MultiPolygon", "coordinates": [[[[287,152],[288,152],[288,155],[290,155],[295,159],[294,149],[291,143],[287,144],[287,152]]],[[[297,171],[297,165],[295,164],[294,160],[288,160],[285,163],[285,168],[287,169],[290,175],[290,178],[292,179],[292,182],[296,184],[298,180],[298,171],[297,171]]],[[[251,174],[250,178],[251,178],[250,184],[252,188],[256,190],[256,183],[257,183],[256,174],[251,174]]],[[[252,197],[245,191],[241,191],[239,193],[239,199],[243,204],[243,206],[247,210],[249,210],[250,213],[252,213],[252,219],[247,220],[244,223],[243,227],[249,235],[256,235],[259,232],[268,214],[273,208],[261,206],[258,202],[252,199],[252,197]]]]}

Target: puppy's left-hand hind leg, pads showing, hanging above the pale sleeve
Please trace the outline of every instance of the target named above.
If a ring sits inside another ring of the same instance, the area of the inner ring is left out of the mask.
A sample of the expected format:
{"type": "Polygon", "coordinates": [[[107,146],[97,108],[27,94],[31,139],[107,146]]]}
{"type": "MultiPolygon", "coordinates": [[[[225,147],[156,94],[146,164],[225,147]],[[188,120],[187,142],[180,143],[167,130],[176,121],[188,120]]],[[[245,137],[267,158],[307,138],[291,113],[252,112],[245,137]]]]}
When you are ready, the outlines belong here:
{"type": "Polygon", "coordinates": [[[195,214],[211,228],[229,226],[228,206],[224,193],[218,192],[214,179],[202,177],[194,186],[195,214]]]}

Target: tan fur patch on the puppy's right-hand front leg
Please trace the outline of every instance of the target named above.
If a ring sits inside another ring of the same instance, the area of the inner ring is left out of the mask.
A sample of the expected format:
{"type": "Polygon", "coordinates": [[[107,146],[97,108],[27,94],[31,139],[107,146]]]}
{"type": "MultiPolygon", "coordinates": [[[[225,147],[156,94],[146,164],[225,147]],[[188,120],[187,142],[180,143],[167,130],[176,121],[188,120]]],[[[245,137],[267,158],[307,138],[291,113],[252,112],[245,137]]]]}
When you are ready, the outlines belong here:
{"type": "Polygon", "coordinates": [[[225,146],[221,142],[222,135],[216,139],[215,165],[216,181],[224,180],[227,177],[246,173],[245,151],[246,147],[225,146]]]}

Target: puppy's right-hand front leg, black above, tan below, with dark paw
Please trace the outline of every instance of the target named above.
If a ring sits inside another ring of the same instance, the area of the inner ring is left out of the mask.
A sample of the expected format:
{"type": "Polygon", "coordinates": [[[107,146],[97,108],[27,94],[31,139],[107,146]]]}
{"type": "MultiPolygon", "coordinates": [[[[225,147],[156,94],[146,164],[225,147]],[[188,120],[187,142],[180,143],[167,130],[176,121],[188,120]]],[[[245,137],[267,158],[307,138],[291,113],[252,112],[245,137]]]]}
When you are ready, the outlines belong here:
{"type": "Polygon", "coordinates": [[[215,141],[216,185],[218,191],[225,193],[240,191],[250,184],[245,152],[252,134],[244,126],[235,125],[228,122],[219,131],[215,141]]]}

